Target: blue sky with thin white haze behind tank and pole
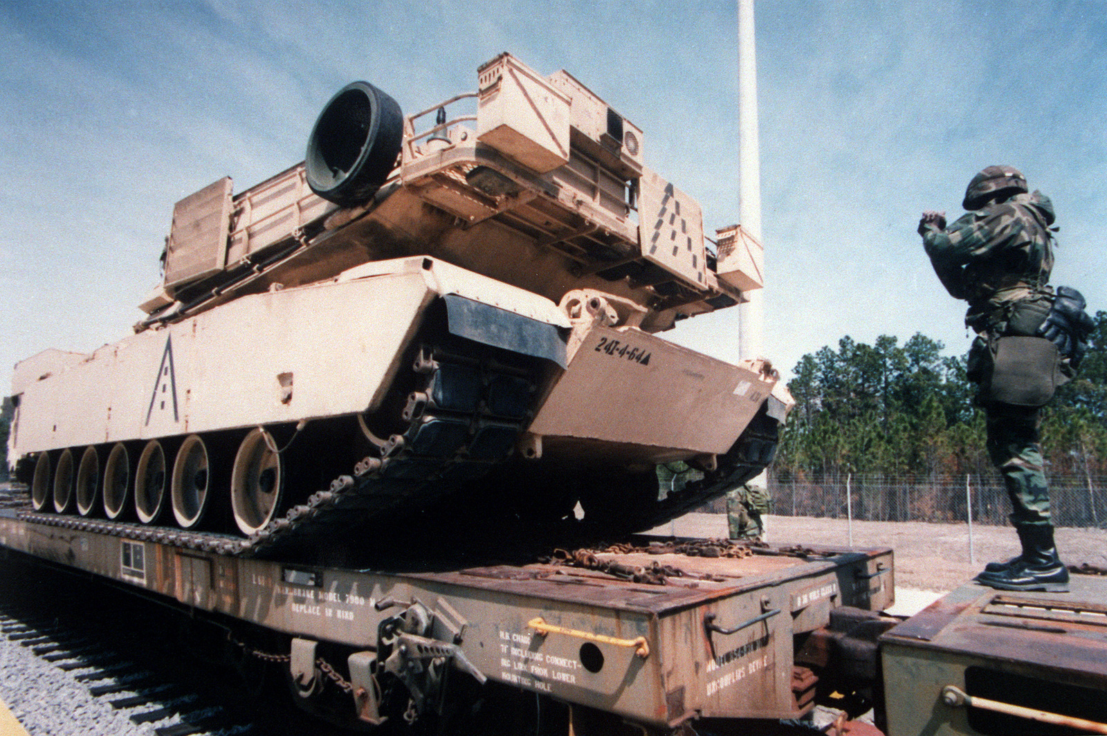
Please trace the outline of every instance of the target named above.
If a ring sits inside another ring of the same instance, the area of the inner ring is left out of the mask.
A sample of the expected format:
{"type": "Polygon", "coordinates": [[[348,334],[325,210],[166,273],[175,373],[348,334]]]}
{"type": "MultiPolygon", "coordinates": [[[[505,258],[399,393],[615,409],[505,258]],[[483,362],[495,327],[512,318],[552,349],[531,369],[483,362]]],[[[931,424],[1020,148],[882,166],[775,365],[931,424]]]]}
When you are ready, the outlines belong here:
{"type": "MultiPolygon", "coordinates": [[[[1107,309],[1107,1],[759,0],[765,353],[922,332],[962,353],[919,212],[1011,164],[1053,198],[1054,283],[1107,309]]],[[[415,112],[510,51],[645,132],[648,165],[738,219],[736,11],[701,2],[35,2],[0,6],[0,380],[130,332],[175,201],[302,159],[333,92],[415,112]]],[[[737,312],[666,336],[737,359],[737,312]]]]}

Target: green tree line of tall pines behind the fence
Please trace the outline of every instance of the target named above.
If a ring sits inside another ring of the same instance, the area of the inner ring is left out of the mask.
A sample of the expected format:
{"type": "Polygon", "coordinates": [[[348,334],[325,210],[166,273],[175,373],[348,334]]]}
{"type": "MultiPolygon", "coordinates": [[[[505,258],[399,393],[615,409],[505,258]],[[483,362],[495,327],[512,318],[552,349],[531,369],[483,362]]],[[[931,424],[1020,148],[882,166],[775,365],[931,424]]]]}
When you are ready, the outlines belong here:
{"type": "MultiPolygon", "coordinates": [[[[1075,380],[1043,412],[1051,475],[1089,479],[1107,471],[1107,312],[1075,380]]],[[[984,414],[965,377],[968,355],[943,356],[915,333],[873,344],[838,341],[804,355],[788,390],[796,400],[774,463],[778,477],[882,474],[949,478],[990,471],[984,414]]]]}

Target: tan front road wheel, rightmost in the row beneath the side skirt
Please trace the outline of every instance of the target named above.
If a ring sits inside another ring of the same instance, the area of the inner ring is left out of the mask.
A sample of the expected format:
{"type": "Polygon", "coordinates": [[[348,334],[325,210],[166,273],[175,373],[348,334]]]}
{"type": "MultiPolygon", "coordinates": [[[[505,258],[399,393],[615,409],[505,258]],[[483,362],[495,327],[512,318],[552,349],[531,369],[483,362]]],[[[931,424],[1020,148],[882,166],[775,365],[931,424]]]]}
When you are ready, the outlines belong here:
{"type": "Polygon", "coordinates": [[[230,507],[239,531],[249,537],[280,509],[283,473],[271,434],[261,427],[242,438],[230,474],[230,507]]]}

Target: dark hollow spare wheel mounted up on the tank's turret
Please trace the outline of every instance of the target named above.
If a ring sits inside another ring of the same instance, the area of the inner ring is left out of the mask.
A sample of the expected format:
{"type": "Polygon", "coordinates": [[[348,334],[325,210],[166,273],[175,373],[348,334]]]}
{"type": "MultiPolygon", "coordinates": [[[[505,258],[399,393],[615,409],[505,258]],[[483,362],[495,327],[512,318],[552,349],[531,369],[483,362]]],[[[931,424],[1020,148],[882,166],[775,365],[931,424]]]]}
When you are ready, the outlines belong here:
{"type": "Polygon", "coordinates": [[[343,207],[365,201],[384,184],[403,142],[396,101],[369,82],[352,82],[319,113],[308,138],[308,186],[343,207]]]}

